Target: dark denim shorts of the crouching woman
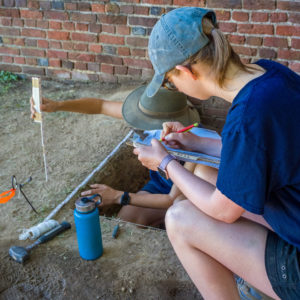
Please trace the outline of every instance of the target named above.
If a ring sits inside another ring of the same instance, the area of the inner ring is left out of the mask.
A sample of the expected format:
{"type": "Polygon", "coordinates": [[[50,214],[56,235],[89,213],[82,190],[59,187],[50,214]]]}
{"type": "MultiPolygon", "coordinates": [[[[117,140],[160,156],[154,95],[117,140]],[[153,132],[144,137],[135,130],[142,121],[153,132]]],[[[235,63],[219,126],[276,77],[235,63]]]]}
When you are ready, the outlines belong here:
{"type": "Polygon", "coordinates": [[[269,231],[265,264],[274,292],[280,299],[300,299],[300,252],[269,231]]]}

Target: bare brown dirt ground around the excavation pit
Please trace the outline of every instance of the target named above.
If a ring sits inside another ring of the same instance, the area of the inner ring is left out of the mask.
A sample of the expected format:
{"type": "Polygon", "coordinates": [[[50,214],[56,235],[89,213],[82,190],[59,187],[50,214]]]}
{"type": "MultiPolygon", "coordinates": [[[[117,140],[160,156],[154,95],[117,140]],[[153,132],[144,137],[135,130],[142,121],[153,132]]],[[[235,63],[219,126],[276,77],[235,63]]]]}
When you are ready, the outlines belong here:
{"type": "MultiPolygon", "coordinates": [[[[56,100],[84,96],[124,100],[136,86],[44,81],[43,95],[56,100]]],[[[104,254],[96,261],[82,260],[73,200],[54,217],[70,222],[71,230],[34,249],[25,265],[9,258],[12,245],[31,243],[18,240],[21,229],[42,221],[129,132],[124,121],[110,117],[45,114],[49,173],[45,182],[40,125],[30,119],[30,95],[31,83],[22,81],[0,97],[0,192],[11,188],[12,175],[21,183],[32,176],[23,190],[39,212],[36,215],[21,195],[0,204],[0,299],[201,299],[161,230],[121,223],[120,234],[113,239],[117,220],[101,217],[104,254]]],[[[117,157],[111,170],[94,180],[138,189],[143,182],[133,183],[131,168],[124,171],[135,159],[124,155],[130,158],[117,157]]]]}

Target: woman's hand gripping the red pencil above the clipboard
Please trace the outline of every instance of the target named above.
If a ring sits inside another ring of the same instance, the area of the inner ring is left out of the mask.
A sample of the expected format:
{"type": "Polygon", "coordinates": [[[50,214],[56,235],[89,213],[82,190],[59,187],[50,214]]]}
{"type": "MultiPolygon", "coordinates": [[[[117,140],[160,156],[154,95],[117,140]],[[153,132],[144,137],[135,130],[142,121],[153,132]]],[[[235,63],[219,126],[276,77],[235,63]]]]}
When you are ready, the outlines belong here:
{"type": "Polygon", "coordinates": [[[187,151],[197,149],[197,144],[201,142],[201,138],[189,131],[177,133],[177,131],[182,128],[184,128],[184,126],[179,122],[165,122],[163,123],[161,138],[167,146],[175,149],[187,151]]]}

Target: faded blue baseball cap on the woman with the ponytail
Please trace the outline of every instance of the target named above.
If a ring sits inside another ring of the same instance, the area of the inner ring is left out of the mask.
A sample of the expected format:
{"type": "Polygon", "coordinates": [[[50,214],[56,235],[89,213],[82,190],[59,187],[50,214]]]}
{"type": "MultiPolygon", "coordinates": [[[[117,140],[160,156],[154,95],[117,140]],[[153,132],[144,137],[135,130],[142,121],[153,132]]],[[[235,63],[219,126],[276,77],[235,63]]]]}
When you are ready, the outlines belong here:
{"type": "Polygon", "coordinates": [[[148,53],[155,74],[147,86],[148,97],[161,87],[166,72],[197,53],[209,39],[202,30],[203,17],[216,24],[214,11],[199,7],[181,7],[162,15],[152,29],[148,53]]]}

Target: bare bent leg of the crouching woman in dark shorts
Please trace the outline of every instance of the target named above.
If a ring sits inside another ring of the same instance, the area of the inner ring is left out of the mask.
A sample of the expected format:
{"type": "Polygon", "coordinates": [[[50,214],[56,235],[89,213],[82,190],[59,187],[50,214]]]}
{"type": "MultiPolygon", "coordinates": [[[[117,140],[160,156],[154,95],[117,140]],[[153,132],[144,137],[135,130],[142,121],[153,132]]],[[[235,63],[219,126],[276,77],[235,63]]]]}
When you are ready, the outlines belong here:
{"type": "Polygon", "coordinates": [[[205,299],[239,299],[233,273],[278,299],[265,270],[264,226],[244,218],[226,224],[184,200],[168,210],[166,228],[178,258],[205,299]]]}

